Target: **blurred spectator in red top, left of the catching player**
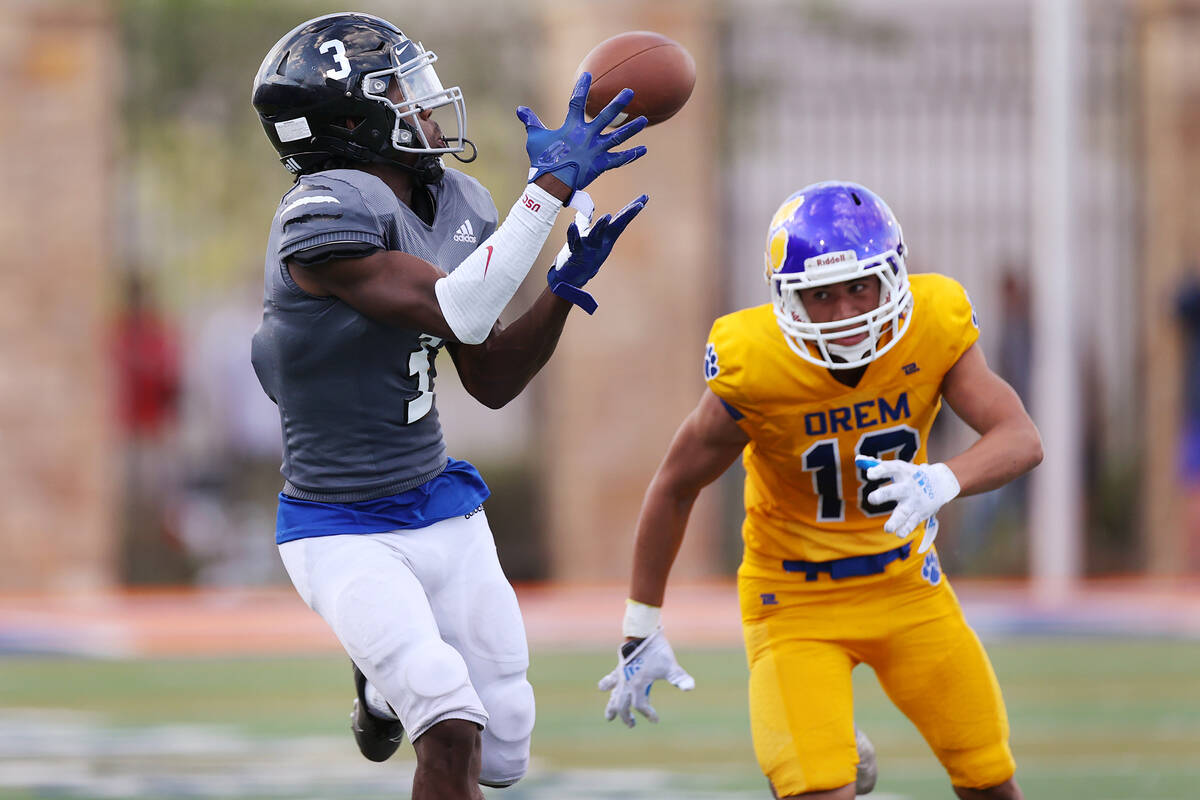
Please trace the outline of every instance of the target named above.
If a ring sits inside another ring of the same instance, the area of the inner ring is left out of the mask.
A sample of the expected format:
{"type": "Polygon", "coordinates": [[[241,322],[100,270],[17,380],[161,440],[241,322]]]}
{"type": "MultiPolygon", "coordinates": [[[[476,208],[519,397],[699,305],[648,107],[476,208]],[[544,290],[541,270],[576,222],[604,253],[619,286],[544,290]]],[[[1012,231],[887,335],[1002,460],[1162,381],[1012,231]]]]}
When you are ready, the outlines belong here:
{"type": "Polygon", "coordinates": [[[137,272],[125,278],[112,354],[125,450],[119,575],[126,584],[185,581],[187,559],[170,523],[176,474],[170,440],[180,395],[178,336],[137,272]]]}

